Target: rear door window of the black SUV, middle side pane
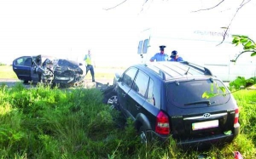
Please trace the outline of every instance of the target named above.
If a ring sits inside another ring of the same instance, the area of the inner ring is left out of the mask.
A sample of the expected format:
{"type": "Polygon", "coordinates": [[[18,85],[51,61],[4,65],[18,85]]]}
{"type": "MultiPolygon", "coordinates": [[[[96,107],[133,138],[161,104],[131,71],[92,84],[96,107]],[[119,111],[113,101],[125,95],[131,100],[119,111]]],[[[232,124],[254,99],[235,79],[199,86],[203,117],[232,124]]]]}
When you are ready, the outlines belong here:
{"type": "Polygon", "coordinates": [[[132,89],[135,90],[138,94],[143,95],[143,97],[146,97],[148,80],[148,75],[143,73],[143,71],[139,71],[134,81],[134,85],[132,86],[132,89]]]}

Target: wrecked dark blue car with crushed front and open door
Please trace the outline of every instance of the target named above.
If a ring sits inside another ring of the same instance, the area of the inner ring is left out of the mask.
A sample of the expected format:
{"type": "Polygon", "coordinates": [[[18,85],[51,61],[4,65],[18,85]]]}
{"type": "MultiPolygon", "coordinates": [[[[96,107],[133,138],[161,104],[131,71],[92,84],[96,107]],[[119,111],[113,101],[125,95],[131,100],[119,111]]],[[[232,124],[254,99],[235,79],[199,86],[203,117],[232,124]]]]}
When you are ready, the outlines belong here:
{"type": "Polygon", "coordinates": [[[81,63],[46,55],[19,57],[13,61],[13,70],[24,83],[43,82],[60,87],[77,87],[84,82],[81,63]]]}

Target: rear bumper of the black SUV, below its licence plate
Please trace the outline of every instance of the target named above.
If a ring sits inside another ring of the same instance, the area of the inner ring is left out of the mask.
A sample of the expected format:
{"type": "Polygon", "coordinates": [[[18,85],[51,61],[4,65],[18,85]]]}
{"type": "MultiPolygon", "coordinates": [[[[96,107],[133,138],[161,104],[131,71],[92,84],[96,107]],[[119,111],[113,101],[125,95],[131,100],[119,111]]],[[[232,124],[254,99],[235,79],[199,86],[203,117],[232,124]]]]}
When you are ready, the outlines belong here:
{"type": "MultiPolygon", "coordinates": [[[[168,142],[169,135],[160,135],[158,133],[153,133],[154,139],[160,139],[160,141],[168,142]]],[[[231,134],[216,134],[212,136],[207,136],[204,138],[197,138],[197,139],[177,139],[177,145],[182,147],[199,147],[204,145],[223,145],[226,143],[230,143],[236,136],[240,133],[240,125],[236,125],[234,128],[234,133],[231,134]]]]}

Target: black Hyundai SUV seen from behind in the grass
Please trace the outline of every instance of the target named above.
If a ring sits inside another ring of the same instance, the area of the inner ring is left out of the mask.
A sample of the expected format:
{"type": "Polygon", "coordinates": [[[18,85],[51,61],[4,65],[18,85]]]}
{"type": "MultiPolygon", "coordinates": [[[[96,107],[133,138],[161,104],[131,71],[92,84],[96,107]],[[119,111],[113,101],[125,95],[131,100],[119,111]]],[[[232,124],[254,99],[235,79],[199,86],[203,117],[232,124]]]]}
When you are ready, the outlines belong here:
{"type": "Polygon", "coordinates": [[[134,120],[143,142],[172,136],[177,145],[224,144],[239,133],[236,100],[200,65],[187,61],[132,65],[116,74],[113,87],[116,96],[108,103],[116,103],[134,120]],[[219,93],[221,87],[225,94],[202,98],[205,92],[219,93]]]}

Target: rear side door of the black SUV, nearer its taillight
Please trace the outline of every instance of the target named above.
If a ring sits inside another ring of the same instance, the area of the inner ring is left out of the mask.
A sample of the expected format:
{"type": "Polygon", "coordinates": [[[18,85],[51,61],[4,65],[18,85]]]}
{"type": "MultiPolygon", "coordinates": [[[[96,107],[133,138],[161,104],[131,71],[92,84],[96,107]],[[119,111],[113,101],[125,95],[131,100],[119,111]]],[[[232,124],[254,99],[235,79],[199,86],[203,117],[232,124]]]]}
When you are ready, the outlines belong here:
{"type": "Polygon", "coordinates": [[[148,93],[148,82],[148,75],[145,74],[143,71],[138,71],[131,91],[127,95],[127,103],[129,105],[129,111],[133,119],[137,117],[138,113],[143,111],[143,105],[145,103],[148,93]]]}

